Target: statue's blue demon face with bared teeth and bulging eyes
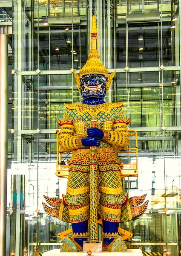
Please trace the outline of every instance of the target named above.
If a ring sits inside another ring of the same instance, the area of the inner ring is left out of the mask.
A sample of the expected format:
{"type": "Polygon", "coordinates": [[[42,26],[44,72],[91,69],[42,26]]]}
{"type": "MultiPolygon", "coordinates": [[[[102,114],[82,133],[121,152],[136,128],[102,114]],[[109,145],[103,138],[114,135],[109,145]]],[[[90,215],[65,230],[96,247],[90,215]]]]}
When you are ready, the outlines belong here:
{"type": "Polygon", "coordinates": [[[101,74],[84,75],[80,80],[81,94],[83,99],[104,98],[106,95],[107,78],[101,74]]]}

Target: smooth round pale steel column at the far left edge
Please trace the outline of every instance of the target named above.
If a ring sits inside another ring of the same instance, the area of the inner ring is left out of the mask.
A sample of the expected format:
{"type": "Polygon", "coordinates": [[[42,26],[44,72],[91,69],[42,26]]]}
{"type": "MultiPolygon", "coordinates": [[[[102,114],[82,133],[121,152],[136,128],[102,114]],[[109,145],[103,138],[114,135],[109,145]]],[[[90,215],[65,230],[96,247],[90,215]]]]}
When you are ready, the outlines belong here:
{"type": "Polygon", "coordinates": [[[6,255],[8,35],[0,35],[0,255],[6,255]]]}

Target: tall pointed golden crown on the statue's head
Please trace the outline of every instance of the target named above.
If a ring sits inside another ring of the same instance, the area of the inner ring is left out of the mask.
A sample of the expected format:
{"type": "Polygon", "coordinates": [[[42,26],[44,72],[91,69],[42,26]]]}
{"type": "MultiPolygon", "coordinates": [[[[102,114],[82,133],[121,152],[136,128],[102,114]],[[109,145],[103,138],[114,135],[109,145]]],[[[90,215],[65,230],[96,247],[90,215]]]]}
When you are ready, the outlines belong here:
{"type": "Polygon", "coordinates": [[[86,62],[86,64],[83,66],[83,68],[79,71],[80,76],[87,74],[102,74],[104,76],[107,76],[109,71],[104,67],[102,62],[100,61],[100,55],[98,54],[98,30],[96,26],[96,20],[95,15],[92,16],[92,29],[91,29],[91,49],[90,54],[88,55],[89,60],[86,62]]]}

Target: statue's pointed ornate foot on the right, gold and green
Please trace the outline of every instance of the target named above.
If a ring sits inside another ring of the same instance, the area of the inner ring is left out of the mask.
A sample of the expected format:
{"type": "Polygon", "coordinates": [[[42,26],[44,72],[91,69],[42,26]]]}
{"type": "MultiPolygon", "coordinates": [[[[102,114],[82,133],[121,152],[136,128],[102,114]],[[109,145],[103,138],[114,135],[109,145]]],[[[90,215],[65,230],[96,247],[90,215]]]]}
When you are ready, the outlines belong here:
{"type": "Polygon", "coordinates": [[[102,247],[108,252],[126,252],[127,247],[121,236],[117,236],[107,247],[102,247]]]}

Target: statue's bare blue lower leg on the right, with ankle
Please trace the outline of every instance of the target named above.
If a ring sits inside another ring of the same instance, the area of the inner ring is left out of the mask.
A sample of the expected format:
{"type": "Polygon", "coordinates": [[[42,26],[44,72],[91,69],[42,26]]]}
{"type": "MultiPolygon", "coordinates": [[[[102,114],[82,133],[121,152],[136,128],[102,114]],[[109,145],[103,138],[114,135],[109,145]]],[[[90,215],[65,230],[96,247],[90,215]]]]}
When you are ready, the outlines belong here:
{"type": "MultiPolygon", "coordinates": [[[[118,232],[119,223],[118,222],[111,222],[111,221],[105,221],[103,220],[103,232],[104,233],[117,233],[118,232]]],[[[109,245],[114,238],[104,238],[103,244],[109,245]]]]}

